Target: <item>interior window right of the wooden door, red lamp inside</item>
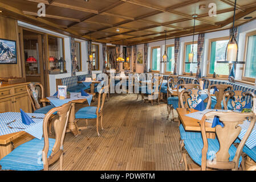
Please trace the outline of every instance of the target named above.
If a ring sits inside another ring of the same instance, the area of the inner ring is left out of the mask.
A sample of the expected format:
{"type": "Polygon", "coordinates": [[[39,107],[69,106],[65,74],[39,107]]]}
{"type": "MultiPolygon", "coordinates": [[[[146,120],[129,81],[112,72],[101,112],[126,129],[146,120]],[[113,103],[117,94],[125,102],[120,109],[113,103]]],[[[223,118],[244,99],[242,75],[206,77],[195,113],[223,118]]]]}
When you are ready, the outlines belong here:
{"type": "MultiPolygon", "coordinates": [[[[58,60],[64,58],[64,41],[63,38],[48,35],[48,61],[50,69],[58,68],[58,60]]],[[[66,63],[64,63],[64,70],[66,70],[66,63]]]]}

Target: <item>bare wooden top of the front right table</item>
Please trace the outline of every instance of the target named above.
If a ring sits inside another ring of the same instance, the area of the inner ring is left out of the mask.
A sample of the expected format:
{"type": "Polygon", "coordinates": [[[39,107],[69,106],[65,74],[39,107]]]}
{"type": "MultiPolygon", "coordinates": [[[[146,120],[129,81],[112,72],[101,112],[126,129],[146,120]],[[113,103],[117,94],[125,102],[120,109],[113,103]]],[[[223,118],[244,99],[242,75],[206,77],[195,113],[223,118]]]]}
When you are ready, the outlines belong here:
{"type": "MultiPolygon", "coordinates": [[[[190,113],[198,112],[198,110],[195,109],[189,110],[190,113]]],[[[186,131],[201,131],[201,121],[186,116],[186,114],[189,114],[189,112],[186,111],[185,108],[177,108],[177,113],[186,131]]],[[[205,131],[208,138],[215,138],[215,128],[212,127],[212,123],[205,122],[205,131]]]]}

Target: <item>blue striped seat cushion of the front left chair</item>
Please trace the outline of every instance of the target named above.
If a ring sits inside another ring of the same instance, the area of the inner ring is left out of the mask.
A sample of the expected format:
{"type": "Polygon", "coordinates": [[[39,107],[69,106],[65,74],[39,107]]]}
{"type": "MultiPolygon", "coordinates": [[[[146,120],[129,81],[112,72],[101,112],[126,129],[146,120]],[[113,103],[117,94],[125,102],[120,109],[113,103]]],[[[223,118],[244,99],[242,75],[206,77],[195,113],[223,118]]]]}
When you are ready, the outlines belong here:
{"type": "MultiPolygon", "coordinates": [[[[48,155],[51,155],[52,147],[55,139],[49,138],[48,155]]],[[[10,154],[0,160],[3,170],[15,171],[39,171],[43,169],[42,150],[44,147],[44,139],[37,138],[23,143],[15,148],[10,154]]]]}

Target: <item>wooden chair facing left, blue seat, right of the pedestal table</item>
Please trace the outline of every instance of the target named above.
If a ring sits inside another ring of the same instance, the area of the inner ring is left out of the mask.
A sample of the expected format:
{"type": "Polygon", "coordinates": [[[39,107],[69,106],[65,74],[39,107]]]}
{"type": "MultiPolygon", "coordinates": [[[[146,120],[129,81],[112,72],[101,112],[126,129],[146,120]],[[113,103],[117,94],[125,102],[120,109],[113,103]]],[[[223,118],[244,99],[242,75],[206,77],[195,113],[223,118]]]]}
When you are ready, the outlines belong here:
{"type": "Polygon", "coordinates": [[[105,86],[104,88],[100,89],[99,95],[98,95],[98,103],[96,106],[89,106],[89,107],[83,107],[82,109],[78,110],[75,114],[75,122],[78,122],[79,119],[86,119],[86,125],[88,125],[88,119],[96,119],[96,130],[97,135],[99,134],[99,118],[100,118],[100,125],[101,130],[103,130],[102,126],[102,120],[103,120],[103,106],[105,102],[106,93],[104,90],[107,90],[108,86],[105,86]],[[102,94],[102,101],[101,101],[101,94],[102,94]],[[100,104],[101,102],[101,104],[100,104]]]}

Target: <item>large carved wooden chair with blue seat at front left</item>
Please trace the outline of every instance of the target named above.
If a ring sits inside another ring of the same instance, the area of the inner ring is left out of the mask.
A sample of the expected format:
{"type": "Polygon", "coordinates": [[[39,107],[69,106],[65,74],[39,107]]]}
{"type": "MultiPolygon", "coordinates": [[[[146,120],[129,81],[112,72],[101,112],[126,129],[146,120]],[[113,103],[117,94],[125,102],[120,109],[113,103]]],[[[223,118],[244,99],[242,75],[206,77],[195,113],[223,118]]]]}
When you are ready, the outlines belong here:
{"type": "Polygon", "coordinates": [[[71,102],[51,109],[43,119],[43,137],[23,143],[0,160],[3,170],[48,171],[48,166],[59,161],[60,171],[63,166],[63,141],[70,115],[71,102]],[[48,122],[51,115],[57,113],[54,121],[55,139],[48,136],[48,122]]]}

